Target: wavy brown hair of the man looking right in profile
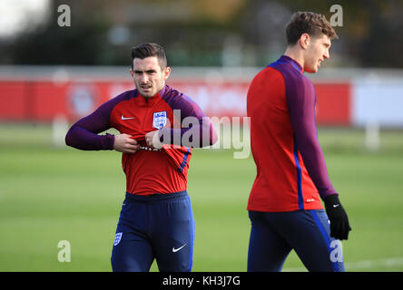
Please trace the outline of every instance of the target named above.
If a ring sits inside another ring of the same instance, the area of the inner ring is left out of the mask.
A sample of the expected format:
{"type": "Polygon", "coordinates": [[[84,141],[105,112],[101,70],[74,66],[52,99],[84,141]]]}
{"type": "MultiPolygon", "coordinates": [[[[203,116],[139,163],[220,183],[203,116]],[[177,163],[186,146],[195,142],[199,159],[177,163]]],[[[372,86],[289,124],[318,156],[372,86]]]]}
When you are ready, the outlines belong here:
{"type": "Polygon", "coordinates": [[[330,39],[339,38],[328,20],[326,20],[325,15],[299,11],[291,15],[290,22],[287,24],[287,44],[294,45],[302,34],[310,34],[310,37],[325,34],[330,39]]]}

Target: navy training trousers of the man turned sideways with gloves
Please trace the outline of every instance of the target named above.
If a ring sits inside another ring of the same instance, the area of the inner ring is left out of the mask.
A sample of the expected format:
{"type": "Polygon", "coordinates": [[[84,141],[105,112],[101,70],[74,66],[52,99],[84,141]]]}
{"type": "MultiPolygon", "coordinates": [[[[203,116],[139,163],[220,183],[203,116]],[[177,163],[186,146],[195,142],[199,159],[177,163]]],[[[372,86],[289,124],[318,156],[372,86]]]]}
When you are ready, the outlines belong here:
{"type": "Polygon", "coordinates": [[[249,217],[249,272],[281,271],[292,249],[309,271],[344,271],[341,243],[329,236],[325,210],[249,211],[249,217]]]}

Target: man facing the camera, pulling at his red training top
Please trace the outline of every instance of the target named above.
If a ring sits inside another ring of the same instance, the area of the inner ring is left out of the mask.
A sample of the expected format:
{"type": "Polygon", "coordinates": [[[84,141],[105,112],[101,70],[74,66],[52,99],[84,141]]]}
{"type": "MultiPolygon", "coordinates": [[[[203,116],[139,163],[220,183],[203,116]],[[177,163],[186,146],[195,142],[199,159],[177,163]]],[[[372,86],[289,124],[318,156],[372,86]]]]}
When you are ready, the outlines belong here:
{"type": "Polygon", "coordinates": [[[191,271],[194,220],[186,191],[191,147],[212,145],[217,135],[195,102],[165,85],[171,68],[160,45],[134,47],[130,73],[136,89],[74,123],[65,141],[79,150],[123,152],[126,196],[113,242],[113,271],[149,271],[154,258],[160,271],[191,271]],[[192,118],[192,126],[172,126],[185,118],[192,118]],[[110,128],[120,134],[98,135],[110,128]]]}

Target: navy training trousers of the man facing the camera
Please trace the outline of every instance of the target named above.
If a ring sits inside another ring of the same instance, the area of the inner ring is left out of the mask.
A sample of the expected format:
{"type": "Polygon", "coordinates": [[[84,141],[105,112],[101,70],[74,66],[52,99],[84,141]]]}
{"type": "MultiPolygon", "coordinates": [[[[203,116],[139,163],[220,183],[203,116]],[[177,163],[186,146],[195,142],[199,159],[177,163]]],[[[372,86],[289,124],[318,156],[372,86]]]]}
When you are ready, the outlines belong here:
{"type": "Polygon", "coordinates": [[[194,218],[186,191],[136,196],[126,193],[113,242],[113,272],[192,270],[194,218]]]}

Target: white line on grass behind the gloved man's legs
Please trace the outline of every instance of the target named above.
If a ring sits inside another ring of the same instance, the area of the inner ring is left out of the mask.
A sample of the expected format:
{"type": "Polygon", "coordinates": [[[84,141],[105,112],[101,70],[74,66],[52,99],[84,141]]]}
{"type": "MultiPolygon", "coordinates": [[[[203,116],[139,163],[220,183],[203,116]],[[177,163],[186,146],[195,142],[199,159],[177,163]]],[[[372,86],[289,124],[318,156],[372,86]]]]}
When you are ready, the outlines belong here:
{"type": "MultiPolygon", "coordinates": [[[[387,259],[375,259],[375,260],[363,260],[359,262],[349,262],[344,263],[346,271],[356,271],[360,269],[371,269],[374,267],[391,267],[391,266],[402,266],[403,265],[403,256],[398,257],[390,257],[387,259]]],[[[293,267],[293,268],[284,268],[284,272],[306,272],[307,269],[305,267],[293,267]]]]}

